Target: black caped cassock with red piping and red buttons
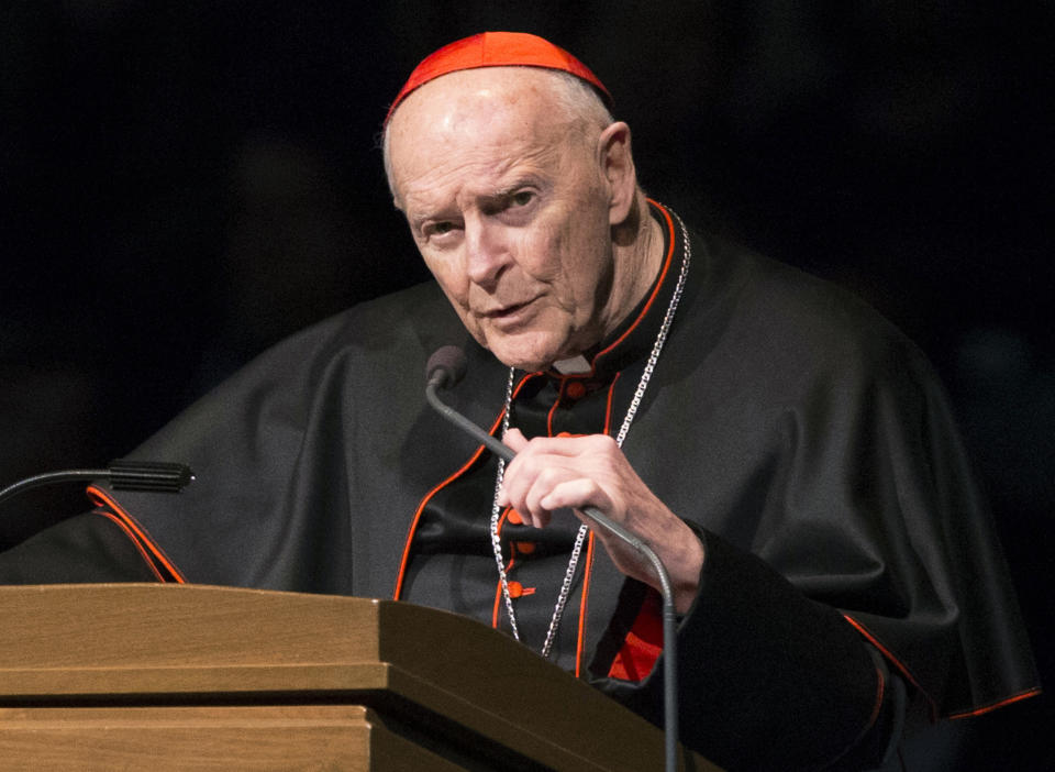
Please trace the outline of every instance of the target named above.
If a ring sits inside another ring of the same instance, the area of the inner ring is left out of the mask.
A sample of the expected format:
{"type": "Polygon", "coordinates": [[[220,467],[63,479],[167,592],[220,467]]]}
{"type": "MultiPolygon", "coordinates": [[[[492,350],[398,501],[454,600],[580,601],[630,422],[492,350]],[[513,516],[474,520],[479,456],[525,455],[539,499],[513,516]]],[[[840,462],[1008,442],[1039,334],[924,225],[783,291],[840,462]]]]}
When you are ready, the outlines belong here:
{"type": "MultiPolygon", "coordinates": [[[[618,431],[681,269],[676,221],[652,213],[663,273],[590,371],[515,374],[511,422],[529,435],[618,431]]],[[[1035,692],[1003,558],[923,355],[828,283],[719,240],[690,247],[623,444],[707,549],[679,628],[682,740],[730,770],[859,768],[881,756],[901,685],[934,716],[1035,692]]],[[[129,454],[189,464],[182,494],[96,487],[96,511],[0,555],[0,581],[398,593],[508,629],[487,533],[496,462],[424,400],[425,361],[448,343],[469,368],[447,400],[497,431],[507,368],[420,285],[280,343],[129,454]]],[[[533,648],[577,525],[503,518],[533,648]]],[[[554,655],[658,721],[652,595],[588,543],[554,655]]]]}

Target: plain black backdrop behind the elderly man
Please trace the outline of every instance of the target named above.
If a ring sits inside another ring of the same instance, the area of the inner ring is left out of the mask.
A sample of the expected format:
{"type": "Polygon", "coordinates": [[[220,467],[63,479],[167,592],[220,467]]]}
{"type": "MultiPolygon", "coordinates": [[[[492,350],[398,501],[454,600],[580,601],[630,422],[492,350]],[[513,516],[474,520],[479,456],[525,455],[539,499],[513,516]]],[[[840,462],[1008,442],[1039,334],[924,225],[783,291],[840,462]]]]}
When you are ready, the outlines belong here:
{"type": "MultiPolygon", "coordinates": [[[[1037,658],[1055,518],[1048,2],[11,1],[0,7],[0,485],[120,456],[267,344],[425,277],[377,133],[487,29],[582,58],[641,180],[865,296],[934,361],[1037,658]]],[[[0,547],[84,508],[34,492],[0,547]],[[44,512],[44,515],[42,515],[44,512]]],[[[951,769],[1055,764],[1051,701],[951,769]]]]}

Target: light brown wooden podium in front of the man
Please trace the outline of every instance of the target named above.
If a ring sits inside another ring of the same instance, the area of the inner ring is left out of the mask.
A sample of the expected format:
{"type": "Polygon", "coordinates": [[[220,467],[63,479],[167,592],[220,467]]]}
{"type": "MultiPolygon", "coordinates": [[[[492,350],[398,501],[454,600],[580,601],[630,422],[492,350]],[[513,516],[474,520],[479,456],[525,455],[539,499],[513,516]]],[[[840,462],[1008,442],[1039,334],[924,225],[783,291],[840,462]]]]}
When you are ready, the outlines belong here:
{"type": "MultiPolygon", "coordinates": [[[[390,600],[0,586],[3,770],[663,769],[647,721],[482,625],[390,600]]],[[[715,771],[695,754],[686,770],[715,771]]]]}

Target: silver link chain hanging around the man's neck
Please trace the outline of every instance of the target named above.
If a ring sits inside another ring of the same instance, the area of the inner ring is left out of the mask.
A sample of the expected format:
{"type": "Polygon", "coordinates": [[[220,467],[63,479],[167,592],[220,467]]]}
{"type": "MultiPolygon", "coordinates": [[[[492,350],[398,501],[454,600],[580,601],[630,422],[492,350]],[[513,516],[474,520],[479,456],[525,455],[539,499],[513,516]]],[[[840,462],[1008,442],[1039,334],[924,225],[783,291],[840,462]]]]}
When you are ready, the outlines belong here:
{"type": "MultiPolygon", "coordinates": [[[[670,210],[668,210],[670,211],[670,210]]],[[[681,299],[681,291],[685,289],[685,279],[689,274],[689,260],[692,254],[692,249],[689,244],[689,234],[685,228],[685,223],[681,221],[681,218],[678,217],[675,212],[670,211],[674,214],[674,218],[678,221],[678,228],[681,231],[681,242],[685,244],[681,254],[681,272],[678,274],[678,283],[674,288],[674,295],[670,297],[670,304],[667,306],[667,313],[663,319],[663,324],[659,327],[659,334],[656,335],[655,343],[652,344],[652,353],[648,355],[648,361],[645,363],[645,370],[641,374],[641,381],[637,382],[637,389],[634,391],[633,399],[630,400],[630,407],[626,409],[626,415],[623,417],[623,423],[619,428],[619,433],[615,435],[615,444],[620,448],[623,446],[623,440],[626,439],[626,432],[630,431],[630,424],[634,420],[634,416],[637,415],[637,408],[641,405],[642,398],[645,396],[645,389],[648,387],[648,382],[652,379],[652,373],[656,367],[656,362],[659,361],[659,352],[663,351],[663,344],[667,340],[667,333],[670,330],[670,324],[674,322],[675,311],[678,309],[678,301],[681,299]]],[[[513,368],[509,368],[509,377],[506,379],[506,407],[502,410],[502,434],[509,431],[509,412],[513,404],[513,368]]],[[[498,492],[502,487],[502,477],[506,473],[506,461],[503,459],[498,460],[498,474],[495,475],[495,498],[491,501],[491,547],[495,550],[495,563],[498,566],[498,578],[502,585],[502,598],[506,600],[506,613],[509,615],[509,626],[513,631],[513,638],[520,641],[520,629],[517,627],[517,614],[513,611],[513,599],[509,594],[509,578],[506,574],[506,561],[502,559],[502,542],[498,534],[498,520],[501,515],[501,507],[498,505],[498,492]]],[[[553,616],[549,619],[549,629],[546,631],[546,640],[542,646],[542,657],[543,659],[549,658],[549,652],[553,650],[553,642],[557,637],[557,629],[560,627],[560,618],[564,616],[564,607],[567,605],[568,596],[571,594],[571,582],[575,578],[575,570],[579,563],[579,554],[582,552],[582,542],[586,540],[586,534],[589,532],[586,523],[579,526],[579,531],[575,537],[575,545],[571,548],[571,558],[568,560],[568,567],[564,572],[564,582],[560,584],[560,592],[557,595],[557,603],[553,609],[553,616]]]]}

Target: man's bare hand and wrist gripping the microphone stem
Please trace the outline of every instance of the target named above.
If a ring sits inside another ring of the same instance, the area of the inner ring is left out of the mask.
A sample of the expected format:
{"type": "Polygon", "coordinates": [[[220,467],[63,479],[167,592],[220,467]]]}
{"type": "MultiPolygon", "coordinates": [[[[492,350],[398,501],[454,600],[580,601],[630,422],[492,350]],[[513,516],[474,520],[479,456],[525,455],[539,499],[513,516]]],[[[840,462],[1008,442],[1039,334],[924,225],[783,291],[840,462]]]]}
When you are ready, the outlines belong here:
{"type": "MultiPolygon", "coordinates": [[[[597,507],[656,552],[670,574],[675,608],[682,614],[689,609],[703,567],[703,545],[642,482],[615,440],[589,434],[529,441],[520,430],[510,429],[503,441],[517,457],[506,466],[500,506],[513,507],[535,528],[545,528],[553,511],[564,507],[592,525],[580,508],[597,507]]],[[[643,555],[603,528],[593,532],[620,571],[659,588],[643,555]]]]}

